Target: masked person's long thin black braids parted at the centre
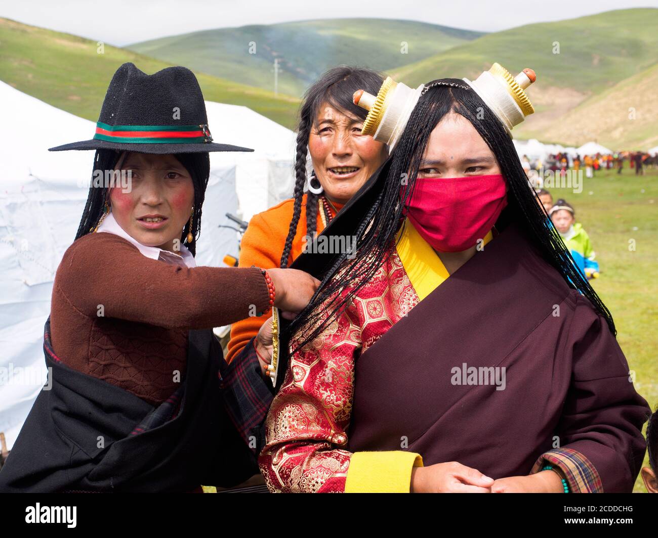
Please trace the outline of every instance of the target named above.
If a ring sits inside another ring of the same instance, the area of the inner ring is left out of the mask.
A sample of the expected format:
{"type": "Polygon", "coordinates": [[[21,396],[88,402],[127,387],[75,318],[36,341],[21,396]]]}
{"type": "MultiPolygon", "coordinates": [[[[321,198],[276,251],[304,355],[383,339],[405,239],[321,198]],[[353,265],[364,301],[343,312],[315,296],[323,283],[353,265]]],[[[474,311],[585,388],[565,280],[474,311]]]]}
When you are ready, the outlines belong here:
{"type": "Polygon", "coordinates": [[[465,87],[463,81],[453,78],[434,81],[438,82],[442,85],[429,88],[418,99],[390,158],[384,185],[357,225],[356,255],[351,259],[348,258],[349,253],[338,256],[309,305],[288,326],[286,332],[292,345],[291,353],[313,341],[336,320],[390,254],[395,234],[403,225],[404,208],[413,194],[430,134],[449,112],[461,114],[471,122],[495,155],[501,174],[507,180],[507,207],[495,223],[496,229],[502,231],[509,224],[518,223],[542,257],[570,287],[591,301],[616,335],[609,310],[578,270],[544,207],[538,203],[534,190],[528,185],[528,178],[503,124],[475,91],[465,87]],[[448,84],[455,86],[446,86],[448,84]],[[401,178],[407,178],[407,181],[402,182],[401,178]]]}

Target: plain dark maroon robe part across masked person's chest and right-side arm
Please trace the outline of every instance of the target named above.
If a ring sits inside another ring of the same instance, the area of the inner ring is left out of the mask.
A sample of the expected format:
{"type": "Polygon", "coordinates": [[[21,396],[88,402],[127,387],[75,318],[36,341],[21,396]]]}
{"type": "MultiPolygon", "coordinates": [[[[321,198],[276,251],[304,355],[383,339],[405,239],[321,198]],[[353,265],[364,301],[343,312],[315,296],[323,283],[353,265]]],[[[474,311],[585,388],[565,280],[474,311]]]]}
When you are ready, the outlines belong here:
{"type": "Polygon", "coordinates": [[[345,448],[407,439],[425,466],[497,479],[559,446],[587,458],[579,480],[592,489],[630,492],[649,413],[605,318],[509,226],[357,358],[345,448]],[[505,368],[503,390],[453,384],[490,366],[505,368]]]}

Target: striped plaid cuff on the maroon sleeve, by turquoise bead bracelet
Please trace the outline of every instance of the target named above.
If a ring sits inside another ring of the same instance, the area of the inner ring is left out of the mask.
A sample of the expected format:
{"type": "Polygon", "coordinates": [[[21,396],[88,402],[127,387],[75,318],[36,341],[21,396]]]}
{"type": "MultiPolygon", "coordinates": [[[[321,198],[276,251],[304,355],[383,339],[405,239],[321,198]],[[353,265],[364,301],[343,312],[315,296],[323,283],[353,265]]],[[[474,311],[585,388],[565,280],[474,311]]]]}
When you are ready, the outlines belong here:
{"type": "Polygon", "coordinates": [[[555,449],[544,452],[532,467],[530,474],[539,472],[545,465],[559,467],[565,474],[570,493],[603,493],[603,483],[592,462],[574,449],[555,449]]]}

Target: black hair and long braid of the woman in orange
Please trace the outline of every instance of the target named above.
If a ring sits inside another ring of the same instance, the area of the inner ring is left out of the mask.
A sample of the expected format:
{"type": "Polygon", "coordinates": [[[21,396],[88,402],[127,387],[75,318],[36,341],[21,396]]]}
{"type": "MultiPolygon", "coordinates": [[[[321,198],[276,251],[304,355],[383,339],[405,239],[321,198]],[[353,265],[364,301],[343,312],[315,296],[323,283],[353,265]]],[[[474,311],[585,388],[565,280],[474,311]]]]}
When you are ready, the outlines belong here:
{"type": "MultiPolygon", "coordinates": [[[[364,68],[340,65],[324,72],[322,76],[307,89],[304,100],[299,110],[299,125],[297,126],[297,149],[295,151],[295,189],[293,198],[292,220],[288,229],[288,236],[284,250],[281,254],[280,265],[288,267],[290,262],[290,251],[292,242],[297,234],[297,225],[301,217],[302,197],[307,180],[307,146],[311,130],[316,128],[318,113],[323,103],[328,103],[334,109],[344,114],[349,114],[365,120],[367,112],[357,107],[352,101],[352,95],[357,89],[365,89],[376,94],[382,86],[383,78],[380,74],[364,68]]],[[[315,175],[315,172],[313,172],[315,175]]],[[[307,192],[306,207],[315,208],[318,205],[318,197],[311,191],[307,192]]],[[[306,235],[312,237],[317,227],[318,212],[306,211],[306,235]]]]}

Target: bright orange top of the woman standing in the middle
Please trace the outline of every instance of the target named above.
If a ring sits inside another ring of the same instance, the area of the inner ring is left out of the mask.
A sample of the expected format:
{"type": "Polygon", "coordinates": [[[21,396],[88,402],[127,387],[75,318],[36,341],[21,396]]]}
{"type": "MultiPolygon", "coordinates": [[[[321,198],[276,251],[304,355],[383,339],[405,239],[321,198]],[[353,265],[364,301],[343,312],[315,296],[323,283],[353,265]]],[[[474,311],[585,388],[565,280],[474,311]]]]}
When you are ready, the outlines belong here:
{"type": "MultiPolygon", "coordinates": [[[[343,204],[333,203],[340,211],[343,204]]],[[[290,198],[282,203],[270,207],[262,213],[255,214],[249,221],[249,227],[242,236],[240,243],[239,267],[251,267],[255,265],[263,269],[280,267],[281,255],[284,251],[286,237],[292,220],[294,199],[290,198]]],[[[317,232],[324,230],[322,218],[320,218],[319,205],[315,208],[317,215],[317,232]]],[[[306,235],[306,195],[301,201],[301,215],[297,223],[297,233],[292,241],[288,265],[301,254],[304,247],[302,241],[306,235]]],[[[258,334],[259,329],[271,316],[272,310],[266,310],[262,316],[253,316],[236,322],[231,327],[231,339],[228,342],[228,353],[226,362],[231,362],[241,349],[258,334]]]]}

